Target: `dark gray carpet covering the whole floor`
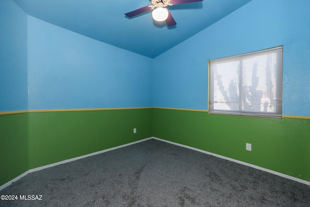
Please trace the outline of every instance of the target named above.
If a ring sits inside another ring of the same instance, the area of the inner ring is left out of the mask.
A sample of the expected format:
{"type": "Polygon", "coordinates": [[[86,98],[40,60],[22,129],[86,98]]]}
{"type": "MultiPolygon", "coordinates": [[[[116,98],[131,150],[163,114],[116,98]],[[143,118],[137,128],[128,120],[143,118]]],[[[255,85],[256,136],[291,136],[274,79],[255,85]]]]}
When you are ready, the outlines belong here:
{"type": "Polygon", "coordinates": [[[1,207],[310,207],[308,185],[154,139],[30,173],[2,194],[18,200],[1,207]]]}

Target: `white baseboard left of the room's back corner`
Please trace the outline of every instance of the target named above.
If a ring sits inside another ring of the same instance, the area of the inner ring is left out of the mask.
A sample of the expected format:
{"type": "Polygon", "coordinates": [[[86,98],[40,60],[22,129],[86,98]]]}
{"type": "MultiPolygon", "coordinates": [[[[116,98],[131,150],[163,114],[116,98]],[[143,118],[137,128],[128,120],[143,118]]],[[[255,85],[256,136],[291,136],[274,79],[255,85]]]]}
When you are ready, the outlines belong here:
{"type": "Polygon", "coordinates": [[[153,137],[149,137],[149,138],[146,138],[146,139],[143,139],[143,140],[138,140],[136,142],[127,143],[127,144],[123,144],[123,145],[120,145],[120,146],[112,147],[112,148],[109,148],[109,149],[101,150],[101,151],[98,151],[98,152],[93,152],[91,154],[79,156],[79,157],[76,157],[76,158],[66,159],[66,160],[63,160],[63,161],[60,161],[60,162],[56,162],[56,163],[52,163],[52,164],[49,164],[49,165],[45,165],[45,166],[42,166],[42,167],[33,168],[33,169],[28,170],[25,173],[17,176],[13,180],[10,180],[9,182],[5,183],[4,185],[0,186],[0,191],[2,189],[4,189],[4,188],[8,187],[9,185],[11,185],[13,182],[16,182],[17,180],[19,180],[23,176],[29,174],[29,173],[32,173],[32,172],[35,172],[35,171],[38,171],[38,170],[43,170],[43,169],[46,169],[46,168],[49,168],[49,167],[53,167],[53,166],[56,166],[56,165],[60,165],[60,164],[63,164],[63,163],[71,162],[71,161],[74,161],[74,160],[86,158],[86,157],[89,157],[89,156],[97,155],[97,154],[100,154],[100,153],[108,152],[108,151],[111,151],[111,150],[114,150],[114,149],[119,149],[119,148],[122,148],[122,147],[125,147],[125,146],[129,146],[131,144],[144,142],[144,141],[150,140],[150,139],[153,139],[153,137]]]}

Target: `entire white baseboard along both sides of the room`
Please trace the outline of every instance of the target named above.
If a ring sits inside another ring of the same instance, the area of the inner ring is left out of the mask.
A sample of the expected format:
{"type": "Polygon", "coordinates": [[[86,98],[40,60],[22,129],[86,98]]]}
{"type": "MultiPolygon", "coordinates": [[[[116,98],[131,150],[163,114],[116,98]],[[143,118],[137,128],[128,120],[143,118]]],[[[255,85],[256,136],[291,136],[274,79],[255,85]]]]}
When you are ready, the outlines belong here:
{"type": "Polygon", "coordinates": [[[290,176],[290,175],[285,175],[285,174],[282,174],[282,173],[278,173],[276,171],[272,171],[272,170],[269,170],[269,169],[266,169],[266,168],[262,168],[262,167],[259,167],[259,166],[256,166],[256,165],[252,165],[252,164],[249,164],[247,162],[239,161],[239,160],[236,160],[236,159],[231,159],[231,158],[228,158],[228,157],[217,155],[217,154],[214,154],[214,153],[211,153],[211,152],[207,152],[207,151],[204,151],[204,150],[201,150],[201,149],[197,149],[197,148],[194,148],[194,147],[191,147],[191,146],[187,146],[187,145],[184,145],[184,144],[179,144],[179,143],[174,143],[174,142],[170,142],[170,141],[167,141],[167,140],[159,139],[157,137],[149,137],[149,138],[146,138],[146,139],[143,139],[143,140],[138,140],[136,142],[123,144],[123,145],[120,145],[120,146],[112,147],[112,148],[101,150],[101,151],[98,151],[98,152],[93,152],[91,154],[79,156],[79,157],[72,158],[72,159],[66,159],[66,160],[63,160],[63,161],[60,161],[60,162],[56,162],[56,163],[53,163],[53,164],[49,164],[49,165],[45,165],[45,166],[42,166],[42,167],[33,168],[33,169],[28,170],[25,173],[17,176],[13,180],[10,180],[9,182],[5,183],[4,185],[0,186],[0,191],[2,189],[6,188],[7,186],[11,185],[13,182],[16,182],[21,177],[29,174],[29,173],[32,173],[32,172],[35,172],[35,171],[38,171],[38,170],[43,170],[43,169],[46,169],[46,168],[49,168],[49,167],[53,167],[53,166],[56,166],[56,165],[60,165],[60,164],[63,164],[63,163],[71,162],[71,161],[74,161],[74,160],[86,158],[86,157],[89,157],[89,156],[101,154],[101,153],[108,152],[108,151],[111,151],[111,150],[119,149],[119,148],[122,148],[122,147],[125,147],[125,146],[129,146],[129,145],[132,145],[132,144],[135,144],[135,143],[144,142],[144,141],[147,141],[147,140],[150,140],[150,139],[155,139],[155,140],[159,140],[159,141],[162,141],[162,142],[175,144],[175,145],[178,145],[178,146],[181,146],[181,147],[185,147],[185,148],[188,148],[188,149],[192,149],[192,150],[195,150],[195,151],[198,151],[198,152],[202,152],[202,153],[205,153],[205,154],[208,154],[208,155],[213,155],[213,156],[221,158],[221,159],[227,159],[227,160],[230,160],[230,161],[233,161],[233,162],[236,162],[236,163],[239,163],[239,164],[243,164],[243,165],[246,165],[246,166],[258,169],[258,170],[262,170],[262,171],[265,171],[265,172],[268,172],[268,173],[272,173],[274,175],[279,175],[281,177],[285,177],[285,178],[288,178],[288,179],[291,179],[291,180],[294,180],[294,181],[297,181],[297,182],[300,182],[300,183],[303,183],[303,184],[306,184],[306,185],[310,185],[309,181],[302,180],[302,179],[299,179],[299,178],[296,178],[296,177],[293,177],[293,176],[290,176]]]}

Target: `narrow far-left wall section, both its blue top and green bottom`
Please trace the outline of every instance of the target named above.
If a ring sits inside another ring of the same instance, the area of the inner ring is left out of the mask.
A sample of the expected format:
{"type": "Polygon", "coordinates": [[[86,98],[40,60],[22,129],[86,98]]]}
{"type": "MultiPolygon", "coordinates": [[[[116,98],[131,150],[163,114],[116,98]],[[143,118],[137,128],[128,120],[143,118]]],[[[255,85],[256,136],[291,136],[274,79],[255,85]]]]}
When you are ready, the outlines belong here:
{"type": "MultiPolygon", "coordinates": [[[[0,111],[28,109],[27,15],[0,0],[0,111]]],[[[0,186],[28,170],[28,114],[0,115],[0,186]]]]}

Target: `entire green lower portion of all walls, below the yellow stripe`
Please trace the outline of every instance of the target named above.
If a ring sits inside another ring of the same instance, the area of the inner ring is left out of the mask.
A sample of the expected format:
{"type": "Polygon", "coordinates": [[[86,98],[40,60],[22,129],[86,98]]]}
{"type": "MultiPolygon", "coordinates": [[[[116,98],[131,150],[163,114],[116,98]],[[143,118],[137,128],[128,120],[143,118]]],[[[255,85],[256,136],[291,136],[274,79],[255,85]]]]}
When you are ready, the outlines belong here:
{"type": "Polygon", "coordinates": [[[0,185],[33,168],[152,136],[310,181],[309,119],[128,109],[18,113],[0,115],[0,123],[0,185]]]}

